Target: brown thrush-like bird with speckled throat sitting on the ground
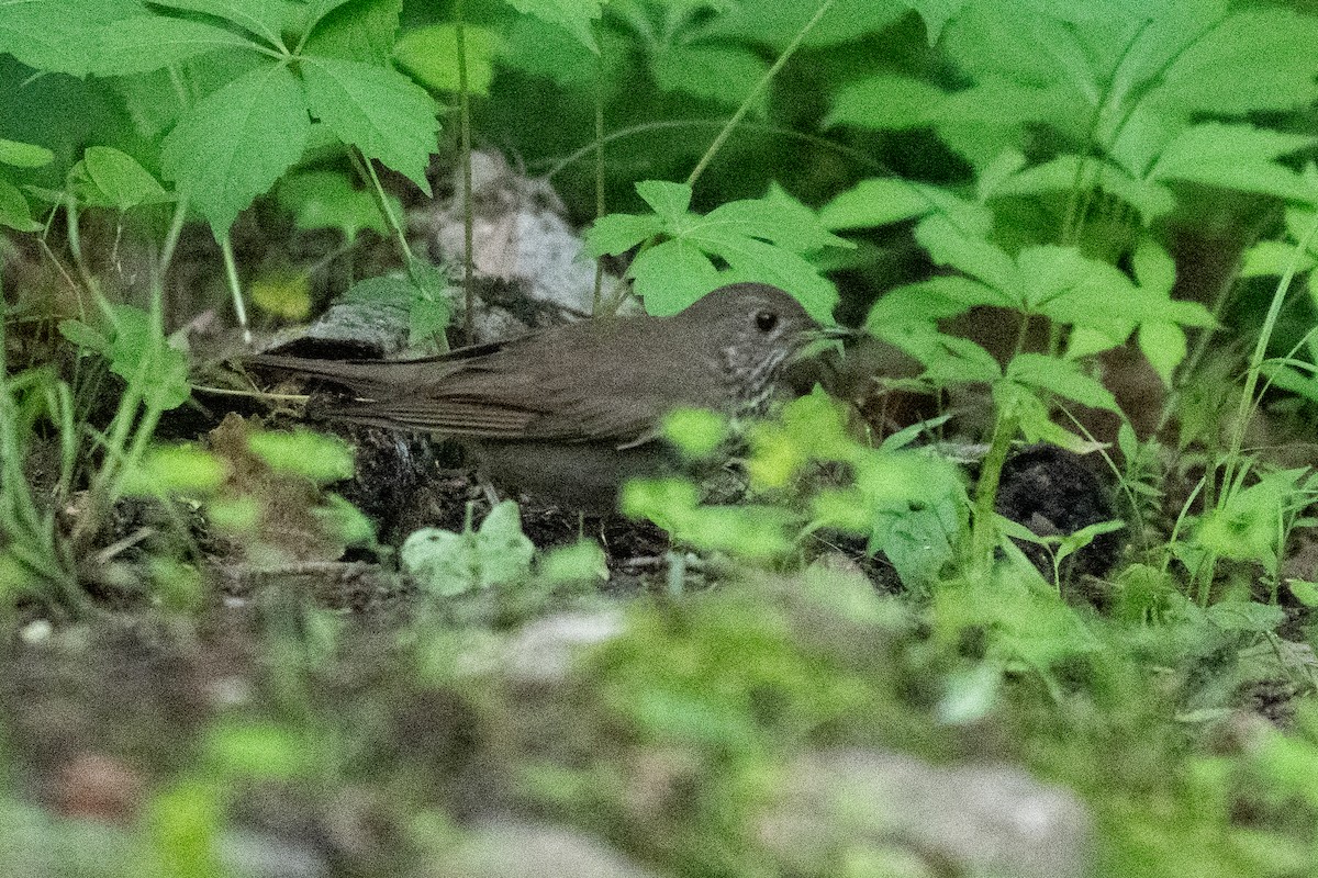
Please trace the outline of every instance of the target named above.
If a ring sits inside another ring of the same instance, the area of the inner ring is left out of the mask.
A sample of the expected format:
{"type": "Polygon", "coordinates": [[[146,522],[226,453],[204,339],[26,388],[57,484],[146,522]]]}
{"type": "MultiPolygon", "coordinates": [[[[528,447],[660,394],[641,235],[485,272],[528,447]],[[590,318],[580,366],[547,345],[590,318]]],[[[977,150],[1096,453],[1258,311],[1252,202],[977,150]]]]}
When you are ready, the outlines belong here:
{"type": "Polygon", "coordinates": [[[596,317],[439,357],[244,363],[356,398],[322,403],[316,417],[455,437],[497,484],[606,512],[627,478],[671,469],[666,415],[762,415],[782,367],[828,332],[788,292],[734,283],[672,316],[596,317]]]}

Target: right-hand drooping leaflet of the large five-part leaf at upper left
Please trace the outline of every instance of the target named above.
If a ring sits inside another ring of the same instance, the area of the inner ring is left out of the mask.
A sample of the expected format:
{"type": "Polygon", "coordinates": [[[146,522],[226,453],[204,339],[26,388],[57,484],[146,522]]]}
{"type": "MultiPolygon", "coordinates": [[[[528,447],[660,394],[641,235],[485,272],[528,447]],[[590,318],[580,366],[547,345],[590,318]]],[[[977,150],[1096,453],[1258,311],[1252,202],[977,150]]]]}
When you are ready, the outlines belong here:
{"type": "Polygon", "coordinates": [[[306,57],[302,75],[307,107],[339,140],[430,195],[426,165],[439,121],[423,88],[394,70],[336,58],[306,57]]]}

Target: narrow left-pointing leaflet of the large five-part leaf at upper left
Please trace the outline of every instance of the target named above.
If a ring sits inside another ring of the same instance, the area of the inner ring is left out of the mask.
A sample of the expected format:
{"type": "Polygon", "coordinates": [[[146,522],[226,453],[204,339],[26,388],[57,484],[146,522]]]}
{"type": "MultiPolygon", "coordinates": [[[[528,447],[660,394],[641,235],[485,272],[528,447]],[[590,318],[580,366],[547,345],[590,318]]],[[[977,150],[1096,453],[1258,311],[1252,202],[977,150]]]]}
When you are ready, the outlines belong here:
{"type": "Polygon", "coordinates": [[[134,16],[105,25],[88,68],[98,76],[145,74],[216,50],[260,46],[225,28],[167,16],[134,16]]]}

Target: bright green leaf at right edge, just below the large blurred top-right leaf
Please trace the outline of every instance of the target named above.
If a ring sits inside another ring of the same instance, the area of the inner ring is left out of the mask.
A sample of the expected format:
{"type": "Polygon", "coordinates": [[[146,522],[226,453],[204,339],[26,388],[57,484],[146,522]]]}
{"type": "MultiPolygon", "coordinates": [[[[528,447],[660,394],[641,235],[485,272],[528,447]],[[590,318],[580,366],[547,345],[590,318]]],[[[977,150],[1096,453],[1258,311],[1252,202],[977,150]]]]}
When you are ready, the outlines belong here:
{"type": "Polygon", "coordinates": [[[1149,179],[1189,180],[1242,192],[1311,200],[1313,187],[1272,159],[1307,149],[1318,138],[1246,124],[1205,122],[1181,132],[1149,170],[1149,179]]]}

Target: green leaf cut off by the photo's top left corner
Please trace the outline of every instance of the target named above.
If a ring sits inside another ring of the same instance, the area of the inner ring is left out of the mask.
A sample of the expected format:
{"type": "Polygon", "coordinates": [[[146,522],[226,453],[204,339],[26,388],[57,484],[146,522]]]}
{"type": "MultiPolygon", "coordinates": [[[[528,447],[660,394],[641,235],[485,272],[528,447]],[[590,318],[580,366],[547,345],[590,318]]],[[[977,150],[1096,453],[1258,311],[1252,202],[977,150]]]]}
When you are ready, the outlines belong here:
{"type": "Polygon", "coordinates": [[[84,76],[101,26],[144,11],[137,0],[0,0],[0,53],[37,70],[84,76]]]}

